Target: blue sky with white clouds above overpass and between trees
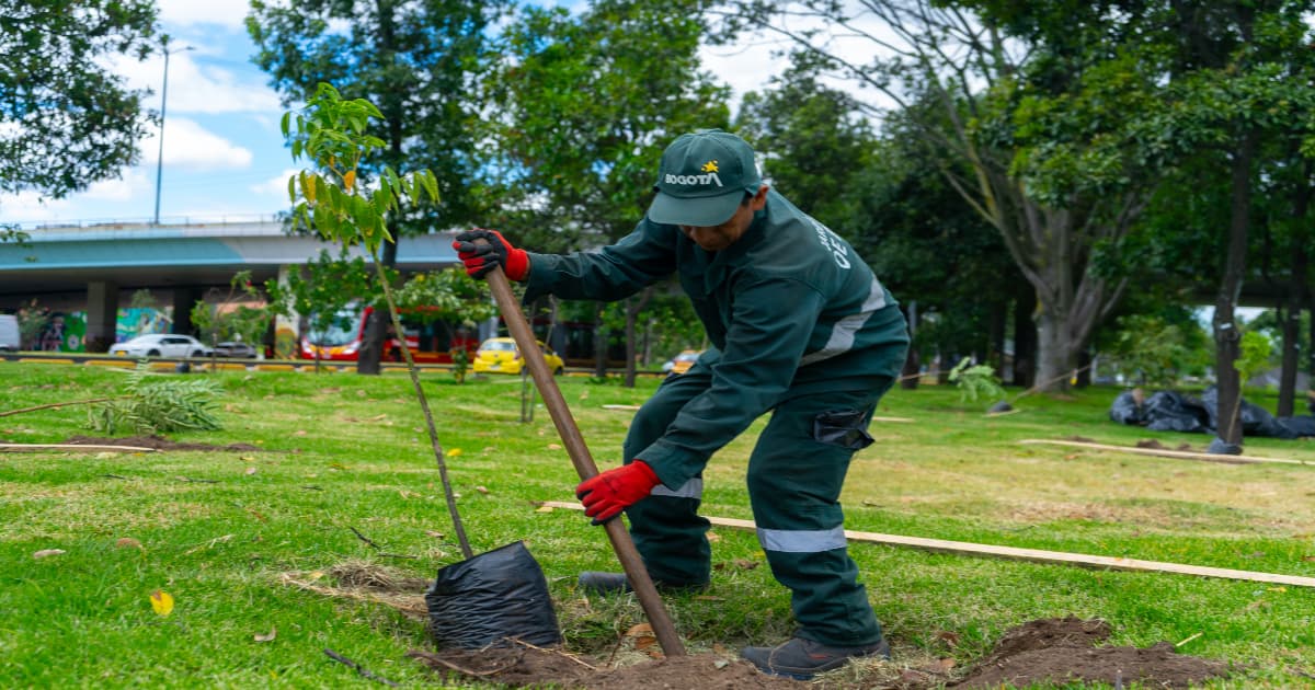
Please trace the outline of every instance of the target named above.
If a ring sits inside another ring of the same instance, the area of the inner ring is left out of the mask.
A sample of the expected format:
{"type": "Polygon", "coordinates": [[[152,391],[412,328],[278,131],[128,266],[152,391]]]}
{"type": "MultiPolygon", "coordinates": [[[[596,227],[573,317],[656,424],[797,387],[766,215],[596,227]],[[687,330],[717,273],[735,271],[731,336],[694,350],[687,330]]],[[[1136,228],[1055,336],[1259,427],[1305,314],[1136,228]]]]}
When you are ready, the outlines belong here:
{"type": "MultiPolygon", "coordinates": [[[[279,121],[284,108],[250,58],[255,46],[242,26],[247,0],[159,0],[171,37],[160,222],[217,222],[272,217],[288,208],[292,158],[279,121]]],[[[705,67],[736,93],[761,88],[781,67],[768,45],[706,49],[705,67]]],[[[129,85],[151,89],[159,110],[164,58],[118,59],[112,70],[129,85]]],[[[141,143],[141,162],[118,179],[92,184],[62,200],[36,193],[0,196],[0,222],[24,226],[70,222],[149,222],[155,214],[158,127],[141,143]]]]}

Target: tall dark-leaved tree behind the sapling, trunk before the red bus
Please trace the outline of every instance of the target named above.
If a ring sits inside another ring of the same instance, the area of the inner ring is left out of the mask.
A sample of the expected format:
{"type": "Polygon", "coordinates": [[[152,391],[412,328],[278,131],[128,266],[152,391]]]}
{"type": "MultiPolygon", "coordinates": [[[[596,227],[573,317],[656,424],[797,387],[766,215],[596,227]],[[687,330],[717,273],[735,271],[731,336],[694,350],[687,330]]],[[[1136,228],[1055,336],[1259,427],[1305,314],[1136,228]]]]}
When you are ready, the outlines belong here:
{"type": "MultiPolygon", "coordinates": [[[[247,32],[255,63],[284,104],[306,100],[329,83],[347,99],[367,99],[381,114],[371,133],[385,142],[356,167],[360,181],[384,167],[434,171],[439,201],[391,213],[384,265],[397,262],[396,239],[483,218],[476,142],[480,75],[494,57],[488,35],[498,0],[254,0],[247,32]]],[[[376,310],[358,360],[379,373],[388,314],[376,310]]]]}

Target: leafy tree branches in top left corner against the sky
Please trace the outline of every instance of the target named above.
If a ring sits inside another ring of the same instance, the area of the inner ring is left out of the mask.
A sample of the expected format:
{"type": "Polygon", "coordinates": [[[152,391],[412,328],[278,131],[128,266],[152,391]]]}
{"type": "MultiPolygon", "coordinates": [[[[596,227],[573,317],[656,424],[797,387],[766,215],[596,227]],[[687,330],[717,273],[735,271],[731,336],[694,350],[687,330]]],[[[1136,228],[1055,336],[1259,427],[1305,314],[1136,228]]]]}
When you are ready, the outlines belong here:
{"type": "Polygon", "coordinates": [[[151,0],[13,0],[0,17],[0,192],[60,198],[137,162],[146,92],[105,59],[156,49],[151,0]]]}

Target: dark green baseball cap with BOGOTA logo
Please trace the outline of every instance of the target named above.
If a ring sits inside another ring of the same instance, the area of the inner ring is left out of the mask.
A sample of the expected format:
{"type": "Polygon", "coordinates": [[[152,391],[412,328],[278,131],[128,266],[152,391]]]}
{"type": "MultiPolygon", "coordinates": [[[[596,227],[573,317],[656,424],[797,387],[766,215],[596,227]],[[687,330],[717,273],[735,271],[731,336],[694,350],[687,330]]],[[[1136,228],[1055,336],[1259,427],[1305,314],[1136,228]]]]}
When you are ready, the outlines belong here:
{"type": "Polygon", "coordinates": [[[681,134],[661,154],[658,196],[648,219],[664,225],[721,225],[735,214],[746,193],[755,195],[763,177],[753,166],[753,149],[719,129],[681,134]]]}

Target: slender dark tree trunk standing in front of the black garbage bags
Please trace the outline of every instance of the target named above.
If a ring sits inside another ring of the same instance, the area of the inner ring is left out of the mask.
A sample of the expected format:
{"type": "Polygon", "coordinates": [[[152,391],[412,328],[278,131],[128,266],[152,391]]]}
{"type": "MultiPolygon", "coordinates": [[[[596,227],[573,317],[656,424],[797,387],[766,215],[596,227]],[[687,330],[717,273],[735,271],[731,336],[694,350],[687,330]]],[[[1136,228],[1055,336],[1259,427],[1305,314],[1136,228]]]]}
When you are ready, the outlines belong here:
{"type": "Polygon", "coordinates": [[[1236,361],[1241,354],[1241,331],[1235,322],[1237,296],[1247,271],[1247,231],[1251,226],[1251,166],[1258,134],[1248,131],[1232,160],[1232,213],[1228,222],[1228,254],[1215,302],[1215,372],[1219,379],[1219,440],[1241,447],[1241,376],[1236,361]]]}

